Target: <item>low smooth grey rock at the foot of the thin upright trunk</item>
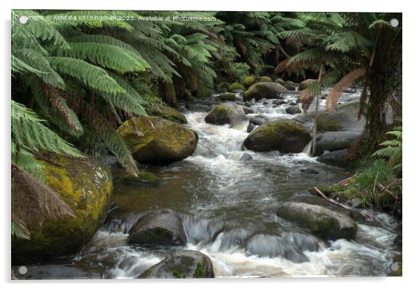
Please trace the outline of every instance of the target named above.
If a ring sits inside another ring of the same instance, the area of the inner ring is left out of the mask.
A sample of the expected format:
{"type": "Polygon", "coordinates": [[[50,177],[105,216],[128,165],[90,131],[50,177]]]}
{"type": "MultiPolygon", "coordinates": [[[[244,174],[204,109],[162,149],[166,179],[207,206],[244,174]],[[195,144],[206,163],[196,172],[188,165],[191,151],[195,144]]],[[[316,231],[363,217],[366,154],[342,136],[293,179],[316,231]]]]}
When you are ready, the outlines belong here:
{"type": "Polygon", "coordinates": [[[316,138],[315,156],[321,156],[324,151],[349,149],[355,144],[361,133],[358,131],[328,131],[316,138]]]}

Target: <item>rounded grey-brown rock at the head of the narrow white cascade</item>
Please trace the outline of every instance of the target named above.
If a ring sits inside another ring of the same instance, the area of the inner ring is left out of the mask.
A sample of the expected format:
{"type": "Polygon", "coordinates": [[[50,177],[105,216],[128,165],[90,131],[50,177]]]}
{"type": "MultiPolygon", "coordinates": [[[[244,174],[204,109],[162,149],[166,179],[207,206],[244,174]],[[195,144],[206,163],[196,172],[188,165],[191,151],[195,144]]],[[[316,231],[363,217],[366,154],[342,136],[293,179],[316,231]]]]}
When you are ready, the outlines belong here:
{"type": "Polygon", "coordinates": [[[219,104],[205,117],[209,124],[232,124],[243,122],[246,115],[242,106],[234,103],[219,104]]]}

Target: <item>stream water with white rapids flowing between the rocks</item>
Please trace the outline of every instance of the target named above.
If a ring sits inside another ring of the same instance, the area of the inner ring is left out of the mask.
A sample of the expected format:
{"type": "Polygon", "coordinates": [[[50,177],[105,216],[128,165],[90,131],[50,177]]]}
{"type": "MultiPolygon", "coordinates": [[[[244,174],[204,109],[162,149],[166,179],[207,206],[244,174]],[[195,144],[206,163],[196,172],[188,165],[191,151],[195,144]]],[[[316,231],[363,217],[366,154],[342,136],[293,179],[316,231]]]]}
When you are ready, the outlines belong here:
{"type": "MultiPolygon", "coordinates": [[[[295,100],[287,95],[285,100],[295,100]]],[[[351,97],[351,95],[349,95],[351,97]]],[[[352,95],[353,97],[353,95],[352,95]]],[[[324,101],[320,107],[324,108],[324,101]]],[[[255,104],[267,119],[292,118],[287,105],[255,104]]],[[[146,167],[163,183],[157,187],[115,182],[118,208],[71,263],[102,278],[135,278],[171,251],[193,249],[210,256],[216,277],[383,276],[393,263],[396,220],[376,214],[358,222],[355,240],[325,242],[276,216],[281,201],[304,201],[332,209],[308,188],[347,178],[344,170],[317,163],[306,153],[256,153],[242,147],[248,122],[231,128],[205,123],[207,113],[187,111],[199,135],[193,156],[163,167],[146,167]],[[244,154],[252,159],[242,161],[244,154]],[[305,174],[312,168],[319,174],[305,174]],[[184,215],[185,247],[127,245],[127,232],[146,211],[171,208],[184,215]]],[[[121,172],[122,173],[122,172],[121,172]]],[[[117,170],[114,172],[118,179],[117,170]]]]}

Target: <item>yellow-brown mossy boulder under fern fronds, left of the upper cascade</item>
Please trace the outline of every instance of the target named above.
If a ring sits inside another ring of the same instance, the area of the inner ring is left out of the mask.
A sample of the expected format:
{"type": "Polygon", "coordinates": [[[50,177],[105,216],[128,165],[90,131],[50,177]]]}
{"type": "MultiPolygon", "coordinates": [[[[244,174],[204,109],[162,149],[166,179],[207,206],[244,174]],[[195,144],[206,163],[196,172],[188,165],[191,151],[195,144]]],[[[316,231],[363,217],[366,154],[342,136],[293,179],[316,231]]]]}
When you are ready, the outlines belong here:
{"type": "Polygon", "coordinates": [[[139,163],[183,160],[193,154],[198,144],[194,131],[161,117],[133,117],[116,132],[127,142],[139,163]]]}

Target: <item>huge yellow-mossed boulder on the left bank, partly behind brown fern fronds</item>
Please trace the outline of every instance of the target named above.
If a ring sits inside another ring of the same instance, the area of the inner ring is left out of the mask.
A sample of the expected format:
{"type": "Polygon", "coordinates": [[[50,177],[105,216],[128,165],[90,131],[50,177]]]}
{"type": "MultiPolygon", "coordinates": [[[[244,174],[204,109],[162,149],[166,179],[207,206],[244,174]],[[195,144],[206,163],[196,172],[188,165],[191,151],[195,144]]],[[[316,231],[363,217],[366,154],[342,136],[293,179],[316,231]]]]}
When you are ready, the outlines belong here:
{"type": "Polygon", "coordinates": [[[93,237],[109,209],[112,176],[106,165],[93,158],[64,156],[45,156],[42,163],[47,184],[76,217],[47,218],[42,226],[29,223],[31,240],[12,240],[15,265],[76,253],[93,237]]]}

